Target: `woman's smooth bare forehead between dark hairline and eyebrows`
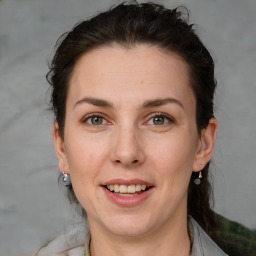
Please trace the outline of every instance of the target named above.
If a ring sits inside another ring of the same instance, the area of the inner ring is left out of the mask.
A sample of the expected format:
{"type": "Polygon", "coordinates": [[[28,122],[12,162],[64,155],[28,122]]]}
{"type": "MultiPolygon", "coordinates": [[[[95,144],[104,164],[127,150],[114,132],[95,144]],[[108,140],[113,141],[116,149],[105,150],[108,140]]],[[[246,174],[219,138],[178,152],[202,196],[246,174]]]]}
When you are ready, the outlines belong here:
{"type": "Polygon", "coordinates": [[[84,54],[74,67],[69,86],[68,101],[88,96],[115,103],[170,96],[194,104],[183,59],[146,45],[101,47],[84,54]]]}

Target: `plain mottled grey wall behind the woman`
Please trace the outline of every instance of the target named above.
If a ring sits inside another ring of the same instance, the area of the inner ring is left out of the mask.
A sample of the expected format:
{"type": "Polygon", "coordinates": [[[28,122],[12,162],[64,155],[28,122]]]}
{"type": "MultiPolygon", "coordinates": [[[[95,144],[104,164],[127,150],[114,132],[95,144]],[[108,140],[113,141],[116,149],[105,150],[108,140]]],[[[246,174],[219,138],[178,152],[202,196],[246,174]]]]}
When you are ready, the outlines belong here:
{"type": "MultiPolygon", "coordinates": [[[[63,32],[111,0],[0,1],[0,255],[30,255],[78,221],[57,185],[47,59],[63,32]]],[[[256,1],[185,4],[216,60],[217,212],[256,228],[256,1]]]]}

